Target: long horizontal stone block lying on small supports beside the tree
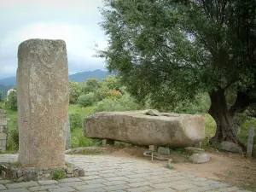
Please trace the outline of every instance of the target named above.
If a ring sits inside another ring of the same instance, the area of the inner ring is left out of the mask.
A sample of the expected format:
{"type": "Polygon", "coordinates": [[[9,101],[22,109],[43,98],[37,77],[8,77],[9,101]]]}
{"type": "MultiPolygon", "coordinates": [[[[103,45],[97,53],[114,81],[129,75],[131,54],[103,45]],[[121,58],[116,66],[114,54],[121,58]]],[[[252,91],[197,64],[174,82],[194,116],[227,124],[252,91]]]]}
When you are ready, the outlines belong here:
{"type": "Polygon", "coordinates": [[[150,116],[145,111],[102,112],[84,119],[84,136],[140,145],[187,147],[205,137],[205,119],[189,114],[150,116]]]}

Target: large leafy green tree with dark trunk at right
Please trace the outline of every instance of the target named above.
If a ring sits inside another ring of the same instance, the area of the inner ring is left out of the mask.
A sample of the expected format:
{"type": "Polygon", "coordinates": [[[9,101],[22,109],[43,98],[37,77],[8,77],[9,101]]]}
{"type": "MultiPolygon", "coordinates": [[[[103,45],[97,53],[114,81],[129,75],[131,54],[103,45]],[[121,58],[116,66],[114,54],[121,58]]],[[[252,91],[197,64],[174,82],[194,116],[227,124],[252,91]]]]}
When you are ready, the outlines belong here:
{"type": "Polygon", "coordinates": [[[99,51],[138,101],[174,108],[207,92],[212,139],[238,140],[234,117],[256,102],[254,0],[106,0],[99,51]],[[228,107],[227,91],[236,93],[228,107]]]}

